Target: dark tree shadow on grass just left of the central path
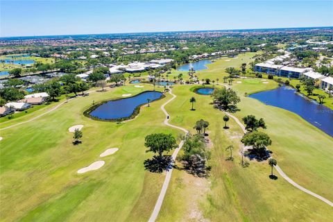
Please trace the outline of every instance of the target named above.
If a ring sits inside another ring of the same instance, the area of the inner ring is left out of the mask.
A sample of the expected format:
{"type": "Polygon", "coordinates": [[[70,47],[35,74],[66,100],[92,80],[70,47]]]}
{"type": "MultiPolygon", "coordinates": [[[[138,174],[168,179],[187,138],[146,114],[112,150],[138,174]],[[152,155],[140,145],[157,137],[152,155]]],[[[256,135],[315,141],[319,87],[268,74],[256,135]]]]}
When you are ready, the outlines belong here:
{"type": "Polygon", "coordinates": [[[154,155],[153,158],[144,160],[144,169],[152,173],[162,173],[169,171],[173,167],[174,161],[171,155],[160,156],[154,155]]]}

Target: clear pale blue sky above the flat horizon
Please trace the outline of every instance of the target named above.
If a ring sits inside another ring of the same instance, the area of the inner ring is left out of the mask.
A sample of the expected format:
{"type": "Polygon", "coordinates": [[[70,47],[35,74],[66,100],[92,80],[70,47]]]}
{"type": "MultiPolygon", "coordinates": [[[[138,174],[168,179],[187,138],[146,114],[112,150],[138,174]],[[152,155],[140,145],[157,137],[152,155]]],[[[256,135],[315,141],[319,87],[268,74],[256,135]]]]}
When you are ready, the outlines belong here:
{"type": "Polygon", "coordinates": [[[333,1],[0,0],[0,36],[333,26],[333,1]]]}

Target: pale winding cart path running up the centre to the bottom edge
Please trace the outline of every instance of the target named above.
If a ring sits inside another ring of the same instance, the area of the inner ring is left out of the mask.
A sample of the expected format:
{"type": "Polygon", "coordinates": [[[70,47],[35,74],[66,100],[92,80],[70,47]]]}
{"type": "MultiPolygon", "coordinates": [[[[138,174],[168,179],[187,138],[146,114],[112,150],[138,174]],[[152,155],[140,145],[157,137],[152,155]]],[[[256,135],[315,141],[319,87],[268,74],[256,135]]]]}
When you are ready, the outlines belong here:
{"type": "MultiPolygon", "coordinates": [[[[164,120],[164,124],[167,125],[167,126],[170,126],[172,128],[176,128],[178,130],[182,130],[184,133],[187,134],[187,133],[189,133],[189,131],[185,130],[185,128],[181,128],[179,126],[174,126],[174,125],[172,125],[172,124],[169,123],[169,119],[167,118],[169,116],[169,113],[164,109],[164,106],[167,105],[168,103],[170,103],[171,101],[173,101],[173,99],[176,98],[176,95],[172,94],[171,89],[170,89],[169,93],[172,95],[172,98],[169,99],[169,101],[167,101],[166,103],[164,103],[161,106],[162,111],[166,115],[166,118],[164,120]]],[[[184,140],[182,140],[182,142],[180,142],[178,148],[176,148],[176,150],[173,151],[173,154],[172,154],[172,159],[173,160],[176,160],[178,152],[180,151],[180,148],[182,148],[183,144],[184,144],[184,140]]],[[[163,186],[162,186],[162,189],[160,191],[160,195],[157,198],[157,202],[155,204],[155,207],[154,207],[153,213],[151,214],[151,218],[149,219],[149,222],[154,222],[157,219],[158,213],[160,212],[161,207],[162,207],[164,196],[167,193],[167,189],[168,189],[169,182],[170,182],[170,179],[171,179],[171,174],[172,174],[172,168],[169,171],[167,171],[167,175],[165,176],[165,179],[164,179],[164,182],[163,182],[163,186]]]]}

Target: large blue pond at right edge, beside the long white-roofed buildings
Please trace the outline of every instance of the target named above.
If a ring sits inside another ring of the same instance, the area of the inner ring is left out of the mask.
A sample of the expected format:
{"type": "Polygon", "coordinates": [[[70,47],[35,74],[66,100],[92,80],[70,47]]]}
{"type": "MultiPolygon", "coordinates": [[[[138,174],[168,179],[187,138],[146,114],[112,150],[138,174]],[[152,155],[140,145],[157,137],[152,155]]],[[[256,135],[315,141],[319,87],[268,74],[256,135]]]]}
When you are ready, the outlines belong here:
{"type": "Polygon", "coordinates": [[[298,94],[296,89],[282,86],[277,89],[251,94],[250,97],[258,99],[266,105],[273,105],[294,112],[333,137],[333,110],[298,94]]]}

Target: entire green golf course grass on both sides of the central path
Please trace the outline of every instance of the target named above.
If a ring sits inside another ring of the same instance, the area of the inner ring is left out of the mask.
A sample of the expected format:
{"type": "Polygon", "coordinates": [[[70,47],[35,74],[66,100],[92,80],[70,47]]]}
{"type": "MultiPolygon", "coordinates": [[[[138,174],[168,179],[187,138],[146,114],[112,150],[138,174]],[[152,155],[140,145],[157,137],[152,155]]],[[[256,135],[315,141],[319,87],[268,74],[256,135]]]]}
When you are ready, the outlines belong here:
{"type": "MultiPolygon", "coordinates": [[[[209,65],[210,69],[198,72],[198,76],[221,80],[225,67],[239,67],[249,60],[248,53],[238,59],[222,58],[209,65]],[[232,61],[225,62],[228,59],[232,61]]],[[[283,171],[303,187],[333,200],[332,137],[296,114],[244,96],[278,87],[278,83],[268,81],[234,81],[232,87],[241,96],[241,111],[235,115],[239,119],[246,114],[263,117],[268,127],[265,132],[273,140],[269,148],[283,171]]],[[[191,92],[191,87],[175,85],[173,93],[178,97],[166,109],[171,114],[171,123],[191,133],[198,119],[210,122],[211,175],[207,179],[195,178],[175,169],[157,221],[330,221],[332,207],[283,178],[270,180],[267,162],[250,161],[250,167],[242,168],[237,154],[241,129],[232,119],[228,122],[230,129],[223,129],[223,112],[212,107],[210,96],[191,92]],[[196,98],[195,111],[190,111],[191,96],[196,98]],[[230,144],[234,145],[233,162],[225,161],[229,155],[225,147],[230,144]]],[[[142,108],[137,118],[121,124],[88,119],[83,111],[92,101],[148,89],[153,87],[126,85],[108,92],[92,92],[35,121],[1,130],[1,221],[147,221],[165,173],[144,171],[144,160],[152,156],[145,153],[144,137],[151,133],[182,133],[163,124],[160,105],[171,96],[167,94],[167,98],[151,103],[151,108],[142,108]],[[71,144],[73,133],[68,132],[76,124],[84,125],[83,144],[78,146],[71,144]],[[99,157],[112,147],[119,151],[99,157]],[[105,160],[101,169],[83,175],[76,173],[97,160],[105,160]]],[[[0,127],[31,119],[56,104],[0,123],[0,127]]]]}

